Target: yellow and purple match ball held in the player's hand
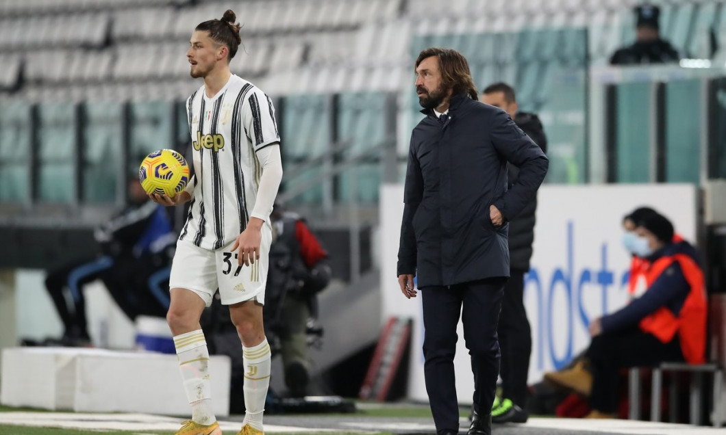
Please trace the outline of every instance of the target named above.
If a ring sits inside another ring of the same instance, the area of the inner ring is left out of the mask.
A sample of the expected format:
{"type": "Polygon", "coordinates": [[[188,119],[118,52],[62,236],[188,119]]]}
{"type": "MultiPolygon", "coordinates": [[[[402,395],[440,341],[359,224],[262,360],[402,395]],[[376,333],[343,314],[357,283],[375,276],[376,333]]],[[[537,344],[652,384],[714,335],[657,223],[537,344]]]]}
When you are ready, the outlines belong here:
{"type": "Polygon", "coordinates": [[[139,181],[147,194],[166,194],[173,198],[189,183],[189,165],[181,153],[160,149],[141,162],[139,181]]]}

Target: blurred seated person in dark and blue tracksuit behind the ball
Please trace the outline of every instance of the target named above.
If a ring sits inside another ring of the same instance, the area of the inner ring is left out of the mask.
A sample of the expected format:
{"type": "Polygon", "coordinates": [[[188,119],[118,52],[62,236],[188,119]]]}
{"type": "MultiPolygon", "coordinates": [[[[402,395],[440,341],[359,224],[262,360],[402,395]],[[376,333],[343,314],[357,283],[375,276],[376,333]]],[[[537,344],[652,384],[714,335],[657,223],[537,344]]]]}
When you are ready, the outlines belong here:
{"type": "Polygon", "coordinates": [[[149,288],[150,278],[167,268],[176,233],[166,207],[152,202],[135,177],[129,181],[129,205],[94,231],[100,252],[48,273],[46,289],[65,328],[62,344],[89,345],[83,286],[101,279],[114,301],[134,320],[139,314],[166,315],[149,288]]]}

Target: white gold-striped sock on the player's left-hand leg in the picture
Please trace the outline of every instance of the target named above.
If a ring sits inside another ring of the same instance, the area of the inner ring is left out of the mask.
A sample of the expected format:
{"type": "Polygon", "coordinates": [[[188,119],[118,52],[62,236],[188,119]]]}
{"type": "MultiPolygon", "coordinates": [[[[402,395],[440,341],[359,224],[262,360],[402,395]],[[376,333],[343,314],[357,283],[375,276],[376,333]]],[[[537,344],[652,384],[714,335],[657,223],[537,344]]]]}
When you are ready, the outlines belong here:
{"type": "Polygon", "coordinates": [[[209,425],[217,421],[212,412],[209,381],[209,351],[201,329],[174,337],[184,391],[192,404],[192,421],[209,425]]]}

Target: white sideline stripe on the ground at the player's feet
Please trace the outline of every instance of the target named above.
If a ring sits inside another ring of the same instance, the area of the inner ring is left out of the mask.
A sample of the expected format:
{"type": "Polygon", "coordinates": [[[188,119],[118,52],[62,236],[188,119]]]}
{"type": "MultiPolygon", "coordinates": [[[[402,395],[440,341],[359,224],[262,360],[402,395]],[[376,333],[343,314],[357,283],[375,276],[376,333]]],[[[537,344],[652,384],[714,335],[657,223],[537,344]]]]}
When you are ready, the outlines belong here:
{"type": "MultiPolygon", "coordinates": [[[[176,431],[184,418],[150,414],[83,414],[83,413],[0,413],[0,424],[54,427],[99,431],[176,431]]],[[[242,428],[237,421],[219,421],[222,431],[236,433],[242,428]]],[[[325,429],[273,426],[265,433],[324,432],[325,429]]]]}

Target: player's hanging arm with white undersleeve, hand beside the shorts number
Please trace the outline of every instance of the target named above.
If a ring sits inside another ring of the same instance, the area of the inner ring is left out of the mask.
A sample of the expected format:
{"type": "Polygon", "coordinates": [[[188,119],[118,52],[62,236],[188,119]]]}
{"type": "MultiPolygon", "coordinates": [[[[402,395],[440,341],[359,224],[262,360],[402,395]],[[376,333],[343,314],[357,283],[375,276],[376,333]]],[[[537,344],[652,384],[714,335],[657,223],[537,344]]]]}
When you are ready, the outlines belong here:
{"type": "Polygon", "coordinates": [[[282,157],[280,156],[280,136],[274,120],[272,101],[256,89],[247,101],[242,112],[242,125],[252,141],[256,159],[262,168],[257,190],[255,207],[250,213],[250,221],[232,246],[239,249],[237,261],[240,265],[250,265],[260,257],[261,229],[272,212],[277,189],[282,182],[282,157]]]}

